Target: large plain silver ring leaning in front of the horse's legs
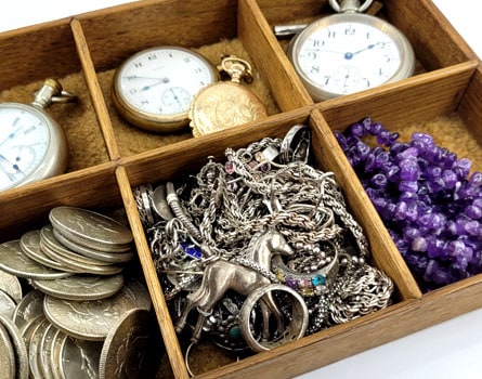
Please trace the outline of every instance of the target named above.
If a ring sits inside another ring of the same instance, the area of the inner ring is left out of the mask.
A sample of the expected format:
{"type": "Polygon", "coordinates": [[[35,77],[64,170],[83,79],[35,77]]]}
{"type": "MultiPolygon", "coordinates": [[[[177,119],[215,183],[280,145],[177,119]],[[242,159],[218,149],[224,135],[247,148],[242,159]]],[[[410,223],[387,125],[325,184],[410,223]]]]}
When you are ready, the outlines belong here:
{"type": "Polygon", "coordinates": [[[290,341],[298,340],[304,336],[307,332],[309,323],[309,311],[303,298],[294,289],[282,284],[271,284],[257,288],[252,291],[243,303],[242,310],[239,312],[239,328],[248,347],[255,352],[262,352],[281,347],[290,341]],[[263,301],[261,298],[273,291],[285,291],[291,295],[292,310],[291,310],[291,322],[285,329],[285,332],[281,338],[273,341],[262,341],[255,338],[251,329],[251,312],[253,311],[256,303],[258,301],[263,301]]]}

